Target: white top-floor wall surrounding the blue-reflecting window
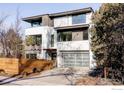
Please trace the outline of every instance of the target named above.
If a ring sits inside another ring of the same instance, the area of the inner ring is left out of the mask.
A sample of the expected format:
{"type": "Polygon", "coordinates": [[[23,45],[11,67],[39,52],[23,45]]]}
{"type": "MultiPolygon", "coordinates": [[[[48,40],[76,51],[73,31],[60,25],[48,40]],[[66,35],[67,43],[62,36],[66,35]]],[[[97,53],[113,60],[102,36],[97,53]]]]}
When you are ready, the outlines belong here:
{"type": "MultiPolygon", "coordinates": [[[[81,24],[89,24],[91,22],[92,13],[86,14],[86,23],[81,24]]],[[[78,25],[78,24],[73,24],[78,25]]],[[[72,26],[72,16],[64,16],[54,18],[54,27],[62,27],[62,26],[72,26]]]]}

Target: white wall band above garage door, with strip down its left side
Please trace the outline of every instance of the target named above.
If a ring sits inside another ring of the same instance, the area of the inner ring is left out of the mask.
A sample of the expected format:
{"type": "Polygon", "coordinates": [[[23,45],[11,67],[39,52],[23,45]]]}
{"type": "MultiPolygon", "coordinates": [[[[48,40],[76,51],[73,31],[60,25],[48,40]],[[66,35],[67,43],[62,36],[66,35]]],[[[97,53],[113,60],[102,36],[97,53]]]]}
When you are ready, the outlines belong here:
{"type": "Polygon", "coordinates": [[[70,41],[70,42],[58,42],[57,44],[57,61],[58,67],[62,65],[61,51],[89,51],[89,40],[84,41],[70,41]]]}

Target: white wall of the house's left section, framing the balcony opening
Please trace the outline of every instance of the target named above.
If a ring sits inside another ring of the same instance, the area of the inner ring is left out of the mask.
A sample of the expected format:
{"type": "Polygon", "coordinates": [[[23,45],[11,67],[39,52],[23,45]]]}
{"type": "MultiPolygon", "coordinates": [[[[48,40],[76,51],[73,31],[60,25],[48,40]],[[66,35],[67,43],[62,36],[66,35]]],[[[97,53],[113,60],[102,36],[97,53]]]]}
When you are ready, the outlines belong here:
{"type": "MultiPolygon", "coordinates": [[[[42,35],[42,45],[41,45],[41,51],[37,53],[37,57],[39,59],[43,59],[46,57],[45,55],[45,50],[48,48],[56,48],[57,44],[57,35],[56,31],[53,29],[53,27],[48,27],[48,26],[43,26],[43,27],[33,27],[33,28],[28,28],[25,30],[25,36],[28,35],[42,35]],[[51,35],[54,34],[54,47],[51,47],[51,35]]],[[[36,51],[26,51],[26,53],[36,53],[36,51]]]]}

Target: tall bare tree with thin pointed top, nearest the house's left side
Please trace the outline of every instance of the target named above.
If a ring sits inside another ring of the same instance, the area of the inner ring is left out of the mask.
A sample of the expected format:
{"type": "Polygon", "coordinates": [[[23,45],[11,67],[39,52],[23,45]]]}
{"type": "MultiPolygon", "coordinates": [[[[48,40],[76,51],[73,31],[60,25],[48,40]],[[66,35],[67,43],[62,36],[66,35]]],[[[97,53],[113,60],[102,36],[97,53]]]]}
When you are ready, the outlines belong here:
{"type": "MultiPolygon", "coordinates": [[[[20,20],[20,11],[17,8],[16,11],[16,20],[13,26],[11,26],[8,31],[8,40],[9,40],[9,50],[13,57],[19,57],[21,55],[21,46],[22,46],[22,37],[20,35],[21,31],[21,20],[20,20]]],[[[9,53],[10,54],[10,53],[9,53]]]]}

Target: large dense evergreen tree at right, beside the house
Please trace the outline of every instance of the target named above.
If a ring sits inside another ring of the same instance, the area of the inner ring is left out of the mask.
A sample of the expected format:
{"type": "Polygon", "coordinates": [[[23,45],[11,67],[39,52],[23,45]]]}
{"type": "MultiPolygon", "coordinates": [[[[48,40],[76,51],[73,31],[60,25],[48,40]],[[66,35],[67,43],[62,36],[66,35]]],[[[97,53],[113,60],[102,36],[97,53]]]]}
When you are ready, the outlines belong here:
{"type": "Polygon", "coordinates": [[[91,46],[98,66],[124,71],[124,4],[102,4],[92,22],[91,46]]]}

